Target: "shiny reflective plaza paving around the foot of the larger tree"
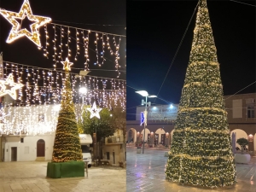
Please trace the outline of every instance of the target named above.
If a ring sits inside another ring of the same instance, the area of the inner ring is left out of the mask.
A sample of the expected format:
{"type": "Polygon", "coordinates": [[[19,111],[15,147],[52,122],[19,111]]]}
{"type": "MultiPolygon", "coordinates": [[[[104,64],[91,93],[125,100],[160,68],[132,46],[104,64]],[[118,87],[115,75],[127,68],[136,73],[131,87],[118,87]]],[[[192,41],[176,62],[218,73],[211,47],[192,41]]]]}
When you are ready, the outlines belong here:
{"type": "Polygon", "coordinates": [[[256,158],[248,165],[236,164],[237,183],[229,189],[202,189],[166,181],[167,157],[164,150],[145,149],[137,154],[137,148],[127,148],[127,192],[256,192],[256,158]]]}

